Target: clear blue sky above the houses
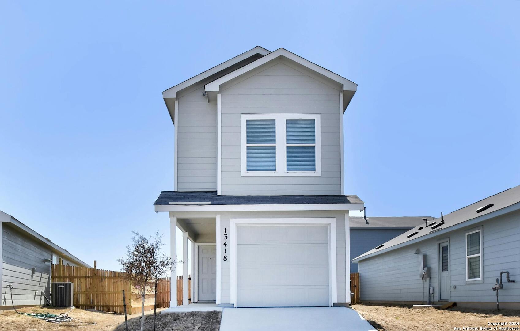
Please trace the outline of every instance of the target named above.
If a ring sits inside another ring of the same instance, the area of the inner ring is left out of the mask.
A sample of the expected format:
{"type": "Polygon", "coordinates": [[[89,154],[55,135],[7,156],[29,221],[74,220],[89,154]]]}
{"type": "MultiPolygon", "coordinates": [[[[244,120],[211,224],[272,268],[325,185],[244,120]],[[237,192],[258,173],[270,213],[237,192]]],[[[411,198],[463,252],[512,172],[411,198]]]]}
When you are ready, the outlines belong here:
{"type": "MultiPolygon", "coordinates": [[[[0,210],[98,268],[173,189],[161,92],[256,45],[357,84],[345,188],[370,216],[520,184],[520,1],[0,4],[0,210]]],[[[167,248],[167,247],[166,247],[167,248]]]]}

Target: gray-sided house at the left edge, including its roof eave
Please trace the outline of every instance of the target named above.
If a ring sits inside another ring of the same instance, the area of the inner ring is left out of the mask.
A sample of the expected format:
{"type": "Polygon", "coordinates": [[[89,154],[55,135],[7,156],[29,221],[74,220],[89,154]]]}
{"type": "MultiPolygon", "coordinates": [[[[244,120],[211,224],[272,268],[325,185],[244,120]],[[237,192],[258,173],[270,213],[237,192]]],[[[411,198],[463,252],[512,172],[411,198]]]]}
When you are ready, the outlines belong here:
{"type": "Polygon", "coordinates": [[[36,233],[11,215],[0,211],[0,311],[36,305],[50,300],[50,268],[59,258],[65,265],[90,267],[50,239],[36,233]],[[12,287],[12,302],[11,288],[12,287]]]}

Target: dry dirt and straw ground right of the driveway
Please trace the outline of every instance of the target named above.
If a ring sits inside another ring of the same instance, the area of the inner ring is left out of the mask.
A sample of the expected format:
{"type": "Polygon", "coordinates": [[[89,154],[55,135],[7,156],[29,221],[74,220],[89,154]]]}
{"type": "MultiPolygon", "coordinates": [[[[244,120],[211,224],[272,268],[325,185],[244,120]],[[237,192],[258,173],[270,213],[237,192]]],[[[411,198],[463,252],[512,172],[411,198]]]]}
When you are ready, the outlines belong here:
{"type": "MultiPolygon", "coordinates": [[[[517,310],[477,310],[450,308],[412,309],[411,305],[354,304],[359,314],[379,331],[454,330],[464,327],[490,327],[491,323],[520,322],[517,310]]],[[[518,325],[504,325],[518,327],[518,325]]],[[[491,326],[492,327],[492,326],[491,326]]]]}

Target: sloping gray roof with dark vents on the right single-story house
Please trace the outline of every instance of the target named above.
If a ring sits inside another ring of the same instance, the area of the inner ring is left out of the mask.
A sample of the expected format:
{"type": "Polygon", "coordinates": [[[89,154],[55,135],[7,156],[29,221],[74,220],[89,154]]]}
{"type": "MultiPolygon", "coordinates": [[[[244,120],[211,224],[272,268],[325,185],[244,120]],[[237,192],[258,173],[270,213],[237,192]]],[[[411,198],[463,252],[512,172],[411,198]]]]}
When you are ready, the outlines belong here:
{"type": "Polygon", "coordinates": [[[354,262],[376,256],[387,251],[418,243],[447,232],[473,225],[478,222],[497,217],[514,210],[520,209],[520,186],[506,189],[503,192],[472,203],[469,206],[453,211],[444,217],[435,219],[432,223],[415,226],[383,245],[369,250],[353,259],[354,262]]]}

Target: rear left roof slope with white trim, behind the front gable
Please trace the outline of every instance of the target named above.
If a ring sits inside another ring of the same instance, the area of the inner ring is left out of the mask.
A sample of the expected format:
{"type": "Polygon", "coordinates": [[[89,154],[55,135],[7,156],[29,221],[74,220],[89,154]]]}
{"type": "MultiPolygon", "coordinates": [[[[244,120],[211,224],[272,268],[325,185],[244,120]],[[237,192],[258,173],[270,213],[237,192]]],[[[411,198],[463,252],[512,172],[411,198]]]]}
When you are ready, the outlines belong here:
{"type": "Polygon", "coordinates": [[[168,112],[170,112],[170,117],[172,118],[172,122],[174,122],[174,107],[175,107],[175,99],[177,98],[177,92],[184,90],[185,88],[188,88],[190,86],[193,86],[201,81],[204,80],[214,80],[215,78],[218,78],[226,73],[229,72],[229,68],[233,67],[235,69],[240,68],[258,58],[263,57],[264,55],[269,54],[269,50],[265,49],[261,46],[255,46],[251,48],[250,50],[237,55],[227,61],[224,61],[220,63],[219,65],[216,65],[213,68],[207,69],[206,71],[203,71],[199,73],[198,75],[193,76],[190,79],[185,80],[184,82],[181,82],[175,86],[172,86],[168,88],[167,90],[163,91],[163,99],[164,103],[166,104],[166,108],[168,109],[168,112]],[[228,71],[226,71],[228,69],[228,71]]]}

